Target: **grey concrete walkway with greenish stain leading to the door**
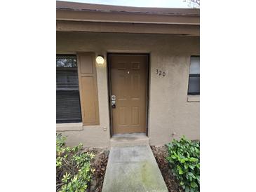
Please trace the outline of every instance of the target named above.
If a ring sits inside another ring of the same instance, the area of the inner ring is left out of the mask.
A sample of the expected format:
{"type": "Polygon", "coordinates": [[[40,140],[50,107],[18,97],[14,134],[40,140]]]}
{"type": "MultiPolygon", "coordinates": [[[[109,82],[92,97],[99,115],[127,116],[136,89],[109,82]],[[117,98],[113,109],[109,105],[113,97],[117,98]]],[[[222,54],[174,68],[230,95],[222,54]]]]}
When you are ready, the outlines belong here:
{"type": "Polygon", "coordinates": [[[149,145],[110,149],[102,192],[168,192],[149,145]]]}

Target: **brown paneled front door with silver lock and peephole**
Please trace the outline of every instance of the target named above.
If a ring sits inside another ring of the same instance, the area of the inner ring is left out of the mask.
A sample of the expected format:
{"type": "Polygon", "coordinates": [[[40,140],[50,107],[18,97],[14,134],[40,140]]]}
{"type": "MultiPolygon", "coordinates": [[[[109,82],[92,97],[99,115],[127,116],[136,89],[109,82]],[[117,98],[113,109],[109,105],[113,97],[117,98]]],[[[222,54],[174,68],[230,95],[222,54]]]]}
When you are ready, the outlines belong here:
{"type": "Polygon", "coordinates": [[[148,55],[109,54],[113,134],[146,132],[147,66],[148,55]]]}

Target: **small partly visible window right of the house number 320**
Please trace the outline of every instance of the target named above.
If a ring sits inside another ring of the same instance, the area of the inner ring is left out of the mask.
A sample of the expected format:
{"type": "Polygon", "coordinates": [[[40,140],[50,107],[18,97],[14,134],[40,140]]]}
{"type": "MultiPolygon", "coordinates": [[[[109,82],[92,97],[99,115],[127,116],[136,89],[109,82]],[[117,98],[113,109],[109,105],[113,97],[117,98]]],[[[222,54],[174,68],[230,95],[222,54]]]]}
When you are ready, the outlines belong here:
{"type": "Polygon", "coordinates": [[[191,56],[188,95],[200,95],[200,57],[191,56]]]}

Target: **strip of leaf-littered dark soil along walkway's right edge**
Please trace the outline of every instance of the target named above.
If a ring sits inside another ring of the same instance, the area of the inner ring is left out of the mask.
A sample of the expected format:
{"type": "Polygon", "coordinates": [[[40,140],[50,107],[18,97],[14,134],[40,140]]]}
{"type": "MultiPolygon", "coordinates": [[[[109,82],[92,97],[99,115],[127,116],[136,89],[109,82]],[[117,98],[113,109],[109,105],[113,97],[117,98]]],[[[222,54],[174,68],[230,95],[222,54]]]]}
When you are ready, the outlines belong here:
{"type": "Polygon", "coordinates": [[[166,156],[168,156],[167,146],[151,146],[156,162],[159,164],[164,181],[169,192],[183,192],[184,190],[180,186],[179,181],[175,179],[173,173],[170,170],[166,156]]]}

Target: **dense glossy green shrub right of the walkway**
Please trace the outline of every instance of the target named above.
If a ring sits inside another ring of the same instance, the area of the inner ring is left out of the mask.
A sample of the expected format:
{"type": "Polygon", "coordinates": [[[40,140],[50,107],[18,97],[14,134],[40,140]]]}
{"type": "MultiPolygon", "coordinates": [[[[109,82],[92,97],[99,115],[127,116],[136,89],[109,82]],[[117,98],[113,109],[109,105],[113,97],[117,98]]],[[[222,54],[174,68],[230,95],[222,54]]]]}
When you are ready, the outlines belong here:
{"type": "Polygon", "coordinates": [[[187,191],[199,191],[200,188],[200,142],[191,142],[184,136],[167,144],[171,170],[187,191]]]}

